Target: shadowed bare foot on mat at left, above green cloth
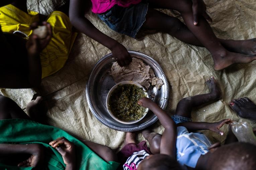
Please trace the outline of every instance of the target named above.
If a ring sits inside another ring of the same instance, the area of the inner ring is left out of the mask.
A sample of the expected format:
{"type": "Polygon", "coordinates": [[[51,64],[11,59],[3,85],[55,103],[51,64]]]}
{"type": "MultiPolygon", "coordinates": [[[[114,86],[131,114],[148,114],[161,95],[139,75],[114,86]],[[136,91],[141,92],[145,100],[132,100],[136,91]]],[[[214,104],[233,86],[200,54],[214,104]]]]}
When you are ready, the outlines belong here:
{"type": "Polygon", "coordinates": [[[45,123],[44,112],[46,111],[44,105],[42,104],[43,98],[41,96],[37,96],[34,100],[32,99],[26,106],[26,111],[28,116],[39,123],[45,123]]]}

